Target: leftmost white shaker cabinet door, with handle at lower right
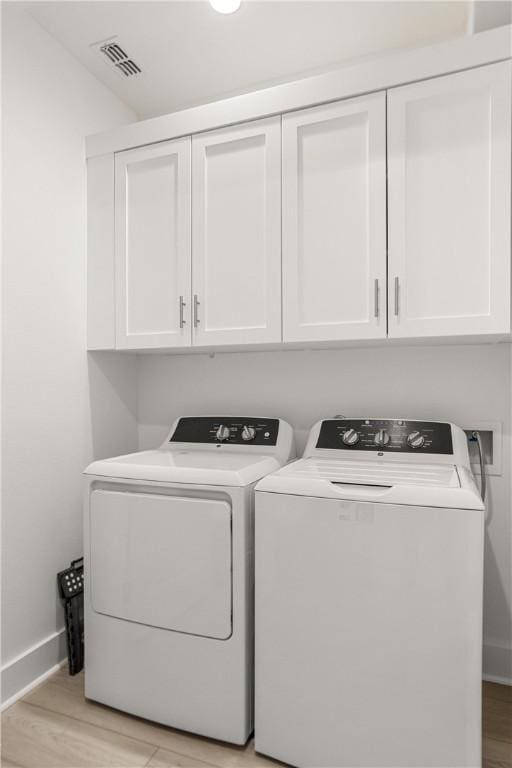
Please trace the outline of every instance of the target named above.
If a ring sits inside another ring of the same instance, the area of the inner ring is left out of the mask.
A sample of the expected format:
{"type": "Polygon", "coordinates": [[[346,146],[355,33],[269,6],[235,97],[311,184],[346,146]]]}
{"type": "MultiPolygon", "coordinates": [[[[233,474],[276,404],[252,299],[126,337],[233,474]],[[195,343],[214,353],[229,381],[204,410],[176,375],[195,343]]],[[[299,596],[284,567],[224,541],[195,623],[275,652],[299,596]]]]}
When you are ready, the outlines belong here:
{"type": "Polygon", "coordinates": [[[116,346],[190,344],[190,138],[116,155],[116,346]]]}

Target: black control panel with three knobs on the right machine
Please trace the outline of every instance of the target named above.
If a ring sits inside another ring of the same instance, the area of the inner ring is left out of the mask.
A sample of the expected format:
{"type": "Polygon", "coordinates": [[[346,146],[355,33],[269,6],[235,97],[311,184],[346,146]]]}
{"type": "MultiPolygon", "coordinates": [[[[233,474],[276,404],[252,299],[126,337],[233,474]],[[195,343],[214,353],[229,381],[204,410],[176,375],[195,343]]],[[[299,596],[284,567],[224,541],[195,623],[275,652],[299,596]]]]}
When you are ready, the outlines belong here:
{"type": "Polygon", "coordinates": [[[322,422],[316,447],[453,454],[450,424],[402,419],[328,419],[322,422]]]}

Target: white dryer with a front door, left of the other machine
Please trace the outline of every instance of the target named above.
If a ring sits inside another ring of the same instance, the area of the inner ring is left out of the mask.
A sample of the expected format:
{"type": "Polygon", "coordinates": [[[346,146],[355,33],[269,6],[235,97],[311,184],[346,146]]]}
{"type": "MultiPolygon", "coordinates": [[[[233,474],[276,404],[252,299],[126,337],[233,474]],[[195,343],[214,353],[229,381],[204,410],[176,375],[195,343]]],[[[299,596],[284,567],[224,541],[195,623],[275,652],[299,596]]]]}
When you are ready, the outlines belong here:
{"type": "Polygon", "coordinates": [[[292,457],[268,418],[193,417],[85,472],[85,695],[237,744],[253,729],[254,485],[292,457]]]}

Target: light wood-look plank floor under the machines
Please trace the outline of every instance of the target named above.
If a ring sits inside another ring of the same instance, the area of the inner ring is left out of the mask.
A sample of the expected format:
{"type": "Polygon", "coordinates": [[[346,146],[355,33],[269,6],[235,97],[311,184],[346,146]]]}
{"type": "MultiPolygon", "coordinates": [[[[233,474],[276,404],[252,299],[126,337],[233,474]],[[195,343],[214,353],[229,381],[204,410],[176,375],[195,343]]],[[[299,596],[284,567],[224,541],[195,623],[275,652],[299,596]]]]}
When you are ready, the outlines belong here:
{"type": "MultiPolygon", "coordinates": [[[[484,683],[484,766],[512,768],[512,687],[484,683]]],[[[62,669],[2,715],[3,768],[258,768],[253,742],[232,747],[87,701],[62,669]]]]}

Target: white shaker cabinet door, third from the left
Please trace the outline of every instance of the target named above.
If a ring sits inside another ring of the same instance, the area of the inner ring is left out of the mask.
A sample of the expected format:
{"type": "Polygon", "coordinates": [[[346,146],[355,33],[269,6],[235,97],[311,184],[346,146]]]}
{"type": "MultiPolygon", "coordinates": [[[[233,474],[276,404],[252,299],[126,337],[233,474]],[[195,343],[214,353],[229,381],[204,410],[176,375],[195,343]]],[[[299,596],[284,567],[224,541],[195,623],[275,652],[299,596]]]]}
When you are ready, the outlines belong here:
{"type": "Polygon", "coordinates": [[[283,338],[386,335],[386,97],[283,116],[283,338]]]}

